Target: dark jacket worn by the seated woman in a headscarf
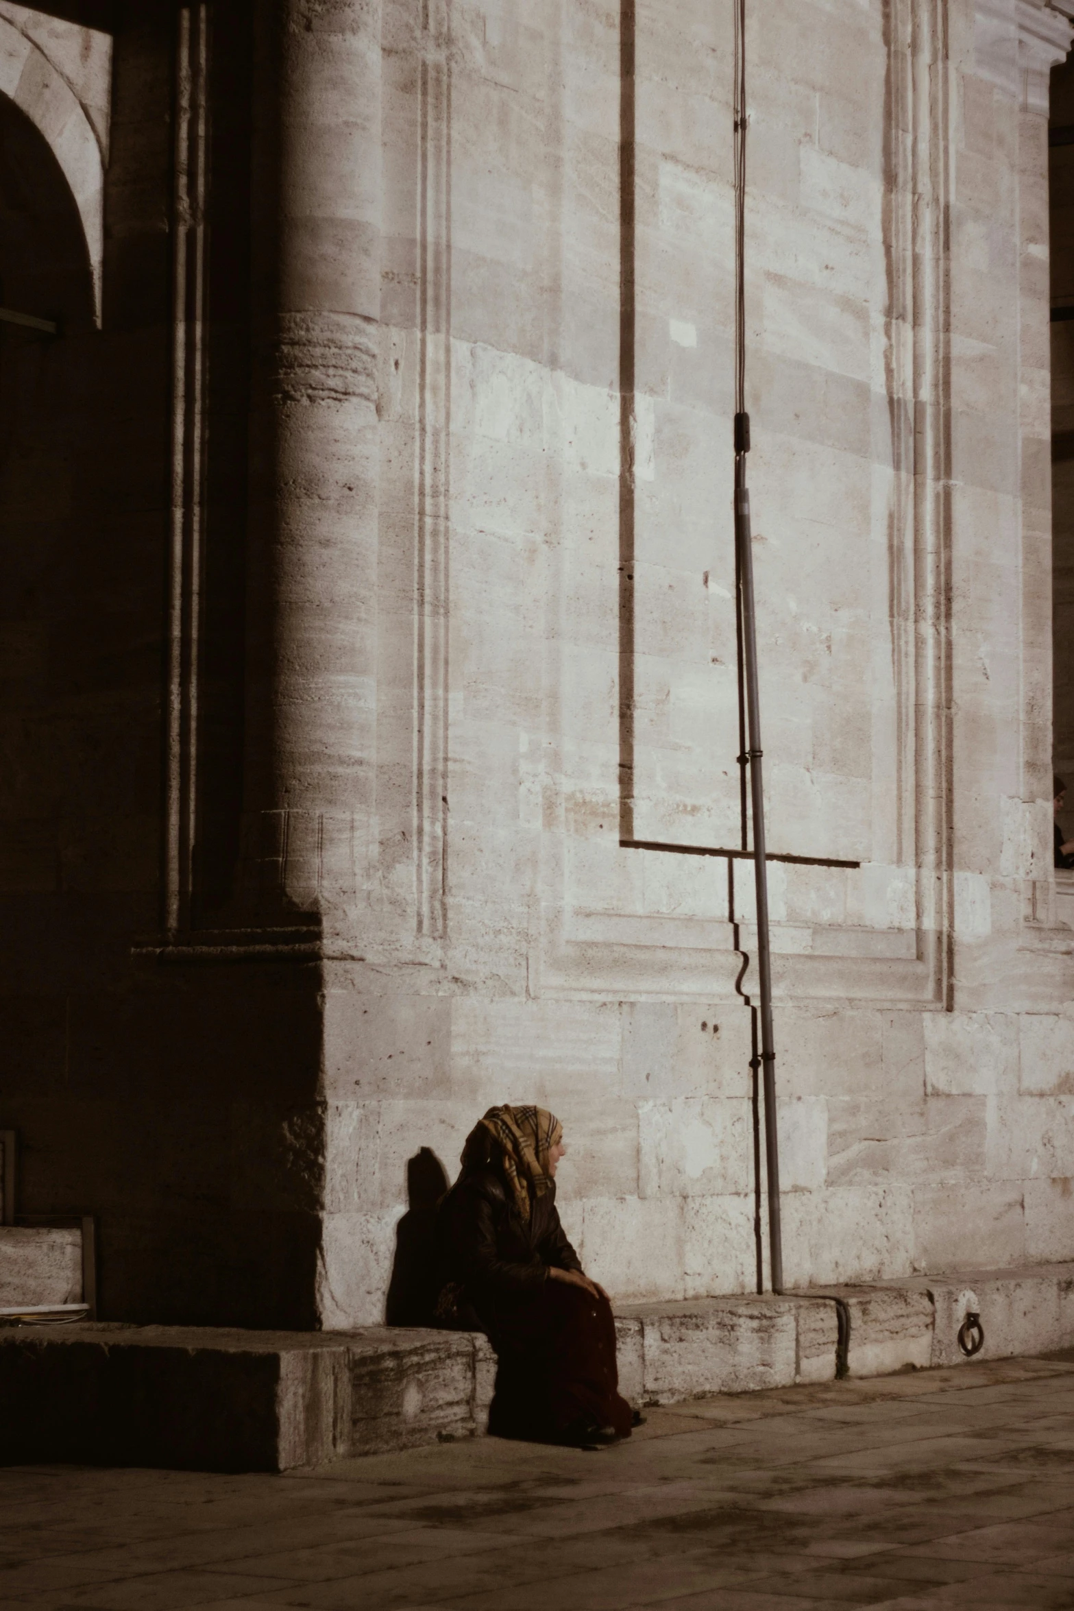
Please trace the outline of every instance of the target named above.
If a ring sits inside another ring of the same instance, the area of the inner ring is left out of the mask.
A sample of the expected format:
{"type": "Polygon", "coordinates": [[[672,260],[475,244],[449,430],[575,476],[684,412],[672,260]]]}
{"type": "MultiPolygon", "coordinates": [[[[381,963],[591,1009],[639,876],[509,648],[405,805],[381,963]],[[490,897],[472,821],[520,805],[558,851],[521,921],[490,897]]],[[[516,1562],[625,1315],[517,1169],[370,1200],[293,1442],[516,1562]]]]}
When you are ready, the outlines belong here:
{"type": "Polygon", "coordinates": [[[556,1208],[556,1182],[523,1223],[493,1165],[464,1168],[438,1210],[440,1268],[494,1340],[498,1321],[547,1281],[549,1266],[581,1269],[556,1208]]]}

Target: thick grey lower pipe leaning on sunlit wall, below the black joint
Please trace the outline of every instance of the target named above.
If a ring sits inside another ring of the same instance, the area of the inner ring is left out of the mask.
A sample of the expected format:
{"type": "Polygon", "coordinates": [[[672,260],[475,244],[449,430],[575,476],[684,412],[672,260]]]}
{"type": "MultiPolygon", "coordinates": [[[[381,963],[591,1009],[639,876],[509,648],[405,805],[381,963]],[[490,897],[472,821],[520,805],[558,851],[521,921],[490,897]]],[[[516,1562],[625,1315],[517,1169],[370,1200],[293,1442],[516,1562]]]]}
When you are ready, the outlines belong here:
{"type": "MultiPolygon", "coordinates": [[[[742,419],[742,416],[739,416],[742,419]]],[[[750,817],[754,825],[754,883],[757,888],[757,976],[760,986],[760,1062],[765,1087],[765,1173],[768,1178],[768,1250],[771,1289],[783,1292],[783,1226],[779,1220],[779,1137],[776,1133],[776,1039],[771,1023],[771,950],[768,941],[768,863],[765,860],[765,783],[760,743],[760,694],[757,686],[757,615],[754,609],[754,554],[750,549],[750,495],[746,485],[749,425],[736,420],[734,546],[742,599],[742,659],[746,664],[746,715],[749,723],[750,817]],[[746,430],[746,448],[739,448],[746,430]]]]}

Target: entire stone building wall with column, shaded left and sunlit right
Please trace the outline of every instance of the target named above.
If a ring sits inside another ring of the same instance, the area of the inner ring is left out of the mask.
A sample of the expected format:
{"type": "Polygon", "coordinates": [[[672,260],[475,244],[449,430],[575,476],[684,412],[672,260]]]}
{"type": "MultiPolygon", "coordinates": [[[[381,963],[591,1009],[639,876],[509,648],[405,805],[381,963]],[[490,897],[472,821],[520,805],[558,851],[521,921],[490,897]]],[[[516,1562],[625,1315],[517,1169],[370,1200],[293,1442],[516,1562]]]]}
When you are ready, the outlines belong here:
{"type": "MultiPolygon", "coordinates": [[[[1061,10],[750,6],[792,1286],[1074,1257],[1061,10]]],[[[101,1213],[105,1316],[374,1323],[407,1160],[539,1100],[617,1298],[747,1292],[749,862],[680,854],[742,843],[729,0],[130,18],[101,329],[40,420],[92,496],[11,625],[85,615],[100,673],[5,704],[24,1207],[101,1213]]]]}

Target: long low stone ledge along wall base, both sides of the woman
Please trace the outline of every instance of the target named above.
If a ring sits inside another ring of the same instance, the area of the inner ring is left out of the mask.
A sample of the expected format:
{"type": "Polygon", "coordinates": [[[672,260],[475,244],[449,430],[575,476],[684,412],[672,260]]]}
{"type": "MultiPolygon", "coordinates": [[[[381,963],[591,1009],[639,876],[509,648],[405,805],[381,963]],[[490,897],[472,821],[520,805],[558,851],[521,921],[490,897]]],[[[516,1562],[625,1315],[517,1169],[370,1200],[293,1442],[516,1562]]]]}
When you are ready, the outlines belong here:
{"type": "MultiPolygon", "coordinates": [[[[617,1311],[636,1403],[882,1376],[1074,1345],[1074,1265],[617,1311]],[[966,1324],[968,1315],[977,1324],[966,1324]]],[[[472,1332],[0,1329],[0,1458],[283,1471],[485,1429],[494,1356],[472,1332]]]]}

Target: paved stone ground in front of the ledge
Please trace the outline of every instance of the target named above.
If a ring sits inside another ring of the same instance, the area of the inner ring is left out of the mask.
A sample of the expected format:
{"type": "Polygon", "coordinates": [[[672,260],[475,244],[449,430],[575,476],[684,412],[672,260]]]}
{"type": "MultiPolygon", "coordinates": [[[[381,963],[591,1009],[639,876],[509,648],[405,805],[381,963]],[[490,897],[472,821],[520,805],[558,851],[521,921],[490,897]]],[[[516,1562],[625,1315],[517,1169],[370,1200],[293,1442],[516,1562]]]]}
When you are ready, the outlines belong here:
{"type": "Polygon", "coordinates": [[[0,1606],[1074,1608],[1074,1352],[283,1477],[0,1471],[0,1606]]]}

